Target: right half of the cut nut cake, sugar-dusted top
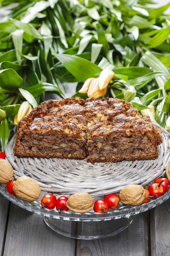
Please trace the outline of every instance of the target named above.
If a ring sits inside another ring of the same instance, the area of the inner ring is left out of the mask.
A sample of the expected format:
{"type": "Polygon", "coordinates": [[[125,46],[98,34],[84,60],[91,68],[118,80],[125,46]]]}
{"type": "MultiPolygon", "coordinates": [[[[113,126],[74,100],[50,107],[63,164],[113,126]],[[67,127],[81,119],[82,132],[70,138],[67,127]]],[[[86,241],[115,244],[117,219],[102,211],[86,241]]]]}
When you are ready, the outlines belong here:
{"type": "Polygon", "coordinates": [[[120,99],[87,99],[88,162],[158,158],[161,130],[120,99]]]}

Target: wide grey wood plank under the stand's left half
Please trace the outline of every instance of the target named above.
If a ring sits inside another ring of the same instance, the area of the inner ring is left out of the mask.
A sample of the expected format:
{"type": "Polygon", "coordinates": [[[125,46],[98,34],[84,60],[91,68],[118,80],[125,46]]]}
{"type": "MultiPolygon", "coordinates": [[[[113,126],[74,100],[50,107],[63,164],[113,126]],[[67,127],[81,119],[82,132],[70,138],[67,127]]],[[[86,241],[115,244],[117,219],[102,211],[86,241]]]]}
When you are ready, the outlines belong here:
{"type": "Polygon", "coordinates": [[[75,240],[51,230],[42,216],[11,204],[4,256],[74,256],[75,240]]]}

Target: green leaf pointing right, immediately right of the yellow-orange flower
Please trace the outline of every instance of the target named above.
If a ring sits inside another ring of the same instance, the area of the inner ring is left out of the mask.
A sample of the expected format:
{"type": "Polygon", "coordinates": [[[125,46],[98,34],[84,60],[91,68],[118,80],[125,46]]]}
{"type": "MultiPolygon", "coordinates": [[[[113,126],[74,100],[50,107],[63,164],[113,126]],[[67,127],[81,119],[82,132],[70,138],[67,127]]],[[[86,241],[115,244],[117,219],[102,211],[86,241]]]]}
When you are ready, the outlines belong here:
{"type": "Polygon", "coordinates": [[[150,73],[150,69],[147,67],[117,67],[114,68],[115,74],[128,76],[128,79],[137,78],[150,73]]]}

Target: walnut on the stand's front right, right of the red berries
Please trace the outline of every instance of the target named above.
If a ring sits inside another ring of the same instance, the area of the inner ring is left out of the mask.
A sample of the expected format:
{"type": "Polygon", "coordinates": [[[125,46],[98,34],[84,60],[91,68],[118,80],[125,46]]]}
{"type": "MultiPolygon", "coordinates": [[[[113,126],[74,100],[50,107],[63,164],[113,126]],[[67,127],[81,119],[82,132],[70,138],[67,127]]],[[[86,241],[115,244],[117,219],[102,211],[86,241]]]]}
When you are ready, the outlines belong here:
{"type": "Polygon", "coordinates": [[[145,199],[144,188],[140,185],[125,186],[119,193],[120,201],[130,206],[141,205],[145,199]]]}

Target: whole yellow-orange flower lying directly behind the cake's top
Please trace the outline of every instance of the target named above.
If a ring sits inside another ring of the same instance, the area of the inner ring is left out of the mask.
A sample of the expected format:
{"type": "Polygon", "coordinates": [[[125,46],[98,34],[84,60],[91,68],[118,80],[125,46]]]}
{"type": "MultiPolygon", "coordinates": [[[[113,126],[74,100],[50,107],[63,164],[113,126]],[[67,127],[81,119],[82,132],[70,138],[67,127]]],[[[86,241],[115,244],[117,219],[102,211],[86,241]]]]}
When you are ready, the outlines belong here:
{"type": "Polygon", "coordinates": [[[89,98],[100,98],[107,92],[107,86],[115,73],[110,69],[102,70],[99,78],[89,78],[83,84],[79,93],[87,93],[89,98]]]}

